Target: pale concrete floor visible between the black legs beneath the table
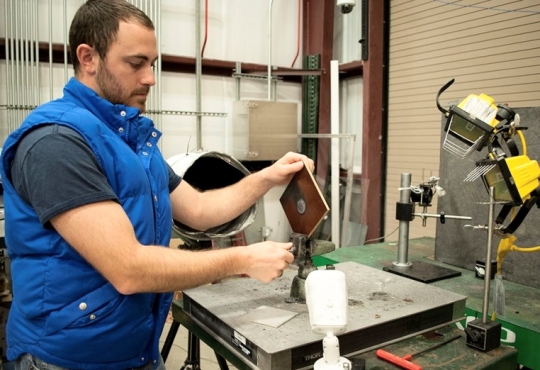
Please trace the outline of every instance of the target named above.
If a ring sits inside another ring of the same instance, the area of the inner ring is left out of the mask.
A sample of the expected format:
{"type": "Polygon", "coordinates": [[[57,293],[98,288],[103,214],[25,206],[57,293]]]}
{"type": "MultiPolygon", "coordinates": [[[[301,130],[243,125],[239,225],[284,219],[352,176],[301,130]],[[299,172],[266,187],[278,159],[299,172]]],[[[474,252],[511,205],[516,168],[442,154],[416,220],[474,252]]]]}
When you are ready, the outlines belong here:
{"type": "MultiPolygon", "coordinates": [[[[169,333],[170,327],[171,323],[165,323],[165,328],[163,329],[160,339],[162,346],[165,342],[167,334],[169,333]]],[[[167,361],[165,361],[167,370],[180,370],[182,366],[185,365],[185,361],[187,359],[187,345],[188,331],[183,326],[180,326],[180,329],[178,329],[178,333],[174,338],[174,343],[171,347],[171,351],[169,352],[169,356],[167,357],[167,361]]],[[[208,347],[202,341],[200,342],[200,357],[200,368],[186,365],[183,370],[220,370],[214,351],[212,351],[210,347],[208,347]]],[[[236,369],[236,367],[229,365],[229,369],[233,370],[236,369]]]]}

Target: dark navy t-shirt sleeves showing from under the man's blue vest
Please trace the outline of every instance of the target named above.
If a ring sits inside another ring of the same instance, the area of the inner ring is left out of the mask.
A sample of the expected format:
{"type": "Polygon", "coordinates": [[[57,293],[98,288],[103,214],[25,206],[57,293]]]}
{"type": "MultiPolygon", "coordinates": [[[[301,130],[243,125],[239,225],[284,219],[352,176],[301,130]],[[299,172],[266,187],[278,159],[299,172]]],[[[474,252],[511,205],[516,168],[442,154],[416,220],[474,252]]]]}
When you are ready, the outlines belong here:
{"type": "MultiPolygon", "coordinates": [[[[168,168],[172,192],[181,177],[168,168]]],[[[62,125],[40,126],[21,140],[11,178],[45,227],[70,209],[104,200],[118,202],[92,149],[79,133],[62,125]]]]}

